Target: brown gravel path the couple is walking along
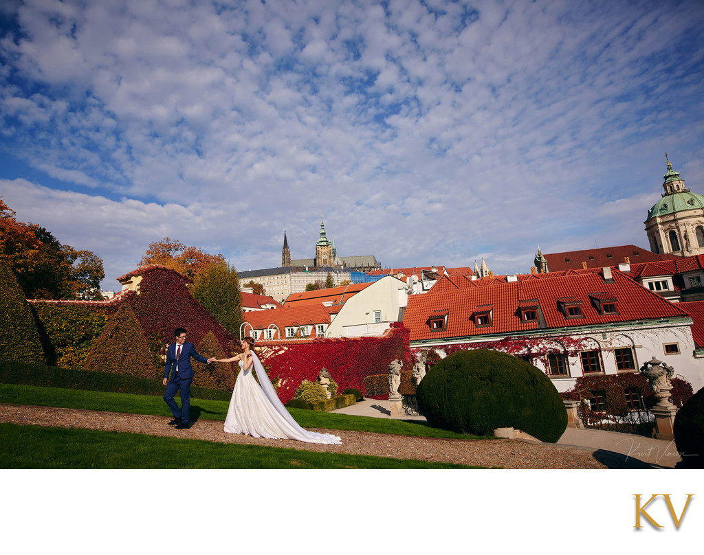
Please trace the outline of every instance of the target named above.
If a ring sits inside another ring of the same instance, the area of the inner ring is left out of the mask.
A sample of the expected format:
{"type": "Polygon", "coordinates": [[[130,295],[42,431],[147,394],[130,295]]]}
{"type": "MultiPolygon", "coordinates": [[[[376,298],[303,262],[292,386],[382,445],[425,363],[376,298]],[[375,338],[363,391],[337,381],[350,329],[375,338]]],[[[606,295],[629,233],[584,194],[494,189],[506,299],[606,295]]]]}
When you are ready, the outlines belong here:
{"type": "Polygon", "coordinates": [[[145,433],[170,438],[189,438],[222,443],[268,445],[291,449],[307,449],[329,453],[348,453],[419,459],[422,461],[466,464],[471,466],[501,466],[502,468],[608,468],[593,457],[590,449],[534,444],[517,440],[441,440],[411,438],[401,435],[319,430],[339,435],[342,445],[317,445],[294,440],[267,440],[235,435],[222,430],[221,421],[199,420],[189,430],[167,426],[166,416],[144,416],[54,407],[1,404],[0,422],[89,428],[129,433],[145,433]]]}

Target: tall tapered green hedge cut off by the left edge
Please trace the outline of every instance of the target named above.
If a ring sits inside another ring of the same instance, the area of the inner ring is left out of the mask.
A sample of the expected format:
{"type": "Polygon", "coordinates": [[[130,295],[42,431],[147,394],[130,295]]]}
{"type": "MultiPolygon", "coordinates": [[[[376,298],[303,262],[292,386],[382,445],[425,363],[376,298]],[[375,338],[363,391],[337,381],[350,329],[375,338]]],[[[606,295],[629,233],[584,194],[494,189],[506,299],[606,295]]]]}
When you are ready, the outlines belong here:
{"type": "Polygon", "coordinates": [[[4,359],[46,362],[30,305],[12,270],[1,260],[0,353],[4,359]]]}

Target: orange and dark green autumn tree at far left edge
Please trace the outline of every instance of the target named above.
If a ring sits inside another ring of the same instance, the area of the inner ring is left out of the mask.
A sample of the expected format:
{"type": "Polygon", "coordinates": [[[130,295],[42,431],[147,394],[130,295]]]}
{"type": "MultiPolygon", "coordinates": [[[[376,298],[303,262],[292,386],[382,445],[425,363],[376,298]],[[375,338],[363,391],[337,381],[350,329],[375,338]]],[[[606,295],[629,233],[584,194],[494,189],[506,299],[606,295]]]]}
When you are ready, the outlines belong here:
{"type": "Polygon", "coordinates": [[[24,224],[0,198],[0,257],[26,298],[99,299],[103,261],[89,250],[62,245],[44,227],[24,224]]]}

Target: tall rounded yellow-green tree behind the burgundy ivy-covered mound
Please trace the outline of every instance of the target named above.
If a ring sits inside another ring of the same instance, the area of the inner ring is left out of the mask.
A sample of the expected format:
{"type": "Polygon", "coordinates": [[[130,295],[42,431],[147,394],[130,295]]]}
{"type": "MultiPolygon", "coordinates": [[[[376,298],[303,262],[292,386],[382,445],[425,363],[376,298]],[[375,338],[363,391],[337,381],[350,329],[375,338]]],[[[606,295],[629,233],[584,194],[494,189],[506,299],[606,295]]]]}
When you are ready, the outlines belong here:
{"type": "Polygon", "coordinates": [[[242,324],[242,300],[234,267],[227,262],[211,264],[196,279],[191,295],[223,328],[238,336],[242,324]]]}

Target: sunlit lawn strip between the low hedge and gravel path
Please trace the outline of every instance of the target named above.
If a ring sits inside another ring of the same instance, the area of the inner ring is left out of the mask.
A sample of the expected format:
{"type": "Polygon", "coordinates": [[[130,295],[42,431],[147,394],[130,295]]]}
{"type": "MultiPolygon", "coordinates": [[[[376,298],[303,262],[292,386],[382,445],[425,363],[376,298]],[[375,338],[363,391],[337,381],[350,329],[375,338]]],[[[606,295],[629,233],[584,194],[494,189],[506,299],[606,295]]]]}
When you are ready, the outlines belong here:
{"type": "MultiPolygon", "coordinates": [[[[170,412],[160,395],[132,395],[128,393],[40,388],[32,385],[0,383],[0,402],[34,404],[40,407],[170,416],[170,412]]],[[[225,401],[191,398],[191,415],[196,419],[225,421],[227,407],[228,403],[225,401]]],[[[303,409],[289,409],[289,412],[303,428],[358,430],[394,435],[415,435],[426,438],[489,439],[432,428],[424,421],[399,421],[303,409]]]]}

